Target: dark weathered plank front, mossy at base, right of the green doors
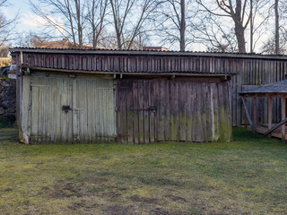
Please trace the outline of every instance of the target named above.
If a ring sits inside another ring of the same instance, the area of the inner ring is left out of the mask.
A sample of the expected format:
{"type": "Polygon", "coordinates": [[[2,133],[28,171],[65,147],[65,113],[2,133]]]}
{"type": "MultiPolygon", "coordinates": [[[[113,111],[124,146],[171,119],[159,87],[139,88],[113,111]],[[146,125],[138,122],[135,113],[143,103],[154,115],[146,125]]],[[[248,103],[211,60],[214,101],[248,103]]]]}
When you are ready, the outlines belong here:
{"type": "Polygon", "coordinates": [[[117,84],[120,142],[216,142],[231,139],[228,82],[125,79],[117,84]]]}

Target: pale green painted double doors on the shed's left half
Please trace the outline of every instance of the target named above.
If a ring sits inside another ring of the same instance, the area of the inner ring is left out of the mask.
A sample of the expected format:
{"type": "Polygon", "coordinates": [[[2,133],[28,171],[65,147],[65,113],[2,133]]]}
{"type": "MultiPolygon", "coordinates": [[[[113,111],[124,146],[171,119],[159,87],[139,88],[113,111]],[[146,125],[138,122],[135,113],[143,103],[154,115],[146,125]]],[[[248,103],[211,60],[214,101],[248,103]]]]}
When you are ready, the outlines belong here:
{"type": "Polygon", "coordinates": [[[23,76],[23,142],[114,142],[117,136],[112,79],[23,76]],[[63,106],[71,109],[65,112],[63,106]]]}

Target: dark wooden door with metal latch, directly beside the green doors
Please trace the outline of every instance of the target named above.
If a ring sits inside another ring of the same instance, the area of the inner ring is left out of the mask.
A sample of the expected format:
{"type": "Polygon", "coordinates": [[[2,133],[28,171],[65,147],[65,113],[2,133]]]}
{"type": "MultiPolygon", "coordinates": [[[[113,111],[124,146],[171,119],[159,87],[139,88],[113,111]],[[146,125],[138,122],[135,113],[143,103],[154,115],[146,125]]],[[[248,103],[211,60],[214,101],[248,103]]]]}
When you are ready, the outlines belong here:
{"type": "Polygon", "coordinates": [[[152,80],[122,80],[117,85],[117,137],[122,143],[156,142],[157,104],[152,80]]]}

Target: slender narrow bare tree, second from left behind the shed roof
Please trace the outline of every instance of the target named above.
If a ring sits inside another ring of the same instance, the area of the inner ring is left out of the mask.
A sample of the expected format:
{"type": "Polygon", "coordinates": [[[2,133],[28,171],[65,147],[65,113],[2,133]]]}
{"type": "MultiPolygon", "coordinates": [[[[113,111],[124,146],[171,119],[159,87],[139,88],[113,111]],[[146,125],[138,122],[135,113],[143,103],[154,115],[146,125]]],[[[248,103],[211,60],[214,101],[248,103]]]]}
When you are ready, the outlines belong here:
{"type": "Polygon", "coordinates": [[[91,24],[91,43],[92,47],[98,47],[100,43],[101,32],[104,29],[105,17],[107,15],[107,8],[109,0],[89,0],[88,13],[86,19],[91,24]]]}

